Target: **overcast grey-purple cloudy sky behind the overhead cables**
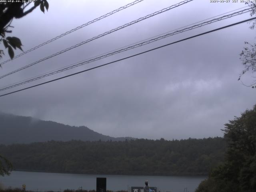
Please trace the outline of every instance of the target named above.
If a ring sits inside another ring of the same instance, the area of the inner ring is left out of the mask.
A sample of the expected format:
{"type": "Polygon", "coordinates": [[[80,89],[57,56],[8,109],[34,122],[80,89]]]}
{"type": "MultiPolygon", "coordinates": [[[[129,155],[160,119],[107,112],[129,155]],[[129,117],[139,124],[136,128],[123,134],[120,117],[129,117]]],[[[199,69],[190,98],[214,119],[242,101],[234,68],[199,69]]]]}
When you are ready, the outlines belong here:
{"type": "MultiPolygon", "coordinates": [[[[22,40],[23,50],[124,6],[132,0],[48,2],[50,7],[45,14],[38,7],[26,17],[12,22],[14,28],[11,36],[22,40]]],[[[144,0],[4,64],[0,75],[178,2],[180,0],[144,0]]],[[[19,82],[244,6],[244,3],[232,3],[232,0],[230,3],[194,0],[2,78],[0,86],[19,82]]],[[[249,13],[171,36],[9,89],[1,94],[247,18],[250,18],[249,13]]],[[[249,29],[249,26],[248,23],[239,24],[76,76],[0,97],[0,110],[72,126],[84,125],[114,137],[170,140],[223,136],[220,129],[224,128],[228,120],[240,116],[241,112],[256,104],[256,90],[242,85],[237,80],[243,70],[239,54],[244,47],[244,41],[255,42],[255,30],[249,29]]],[[[15,54],[19,53],[21,51],[15,51],[15,54]]],[[[3,61],[7,59],[8,56],[5,56],[3,61]]],[[[253,80],[252,74],[242,80],[249,84],[253,80]]]]}

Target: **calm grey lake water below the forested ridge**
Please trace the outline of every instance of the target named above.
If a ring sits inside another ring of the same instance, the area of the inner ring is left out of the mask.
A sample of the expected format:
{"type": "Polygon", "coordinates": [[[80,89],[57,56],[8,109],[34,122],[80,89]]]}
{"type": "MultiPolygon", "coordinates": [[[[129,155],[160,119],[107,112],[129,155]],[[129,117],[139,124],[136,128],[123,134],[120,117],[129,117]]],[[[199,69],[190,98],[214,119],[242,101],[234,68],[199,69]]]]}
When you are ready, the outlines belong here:
{"type": "Polygon", "coordinates": [[[131,186],[144,186],[148,180],[151,187],[157,187],[161,192],[194,192],[198,184],[206,177],[182,177],[182,176],[127,176],[127,175],[86,175],[86,174],[62,174],[44,172],[13,171],[10,176],[0,177],[4,187],[22,188],[26,184],[26,190],[34,191],[63,191],[64,189],[96,190],[96,178],[106,177],[107,190],[128,190],[131,186]]]}

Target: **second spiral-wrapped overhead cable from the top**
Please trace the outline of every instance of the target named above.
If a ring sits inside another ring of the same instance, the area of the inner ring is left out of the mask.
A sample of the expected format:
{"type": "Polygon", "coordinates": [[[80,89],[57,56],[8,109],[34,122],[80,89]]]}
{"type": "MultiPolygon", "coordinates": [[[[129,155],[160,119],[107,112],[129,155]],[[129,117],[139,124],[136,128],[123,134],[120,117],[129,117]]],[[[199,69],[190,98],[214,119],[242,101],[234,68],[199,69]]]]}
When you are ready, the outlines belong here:
{"type": "Polygon", "coordinates": [[[112,32],[118,31],[118,30],[120,30],[120,29],[122,29],[122,28],[125,28],[125,27],[130,26],[130,25],[135,24],[135,23],[138,23],[138,22],[140,22],[140,21],[142,21],[142,20],[145,20],[145,19],[147,19],[147,18],[150,18],[150,17],[152,17],[152,16],[158,15],[158,14],[160,14],[160,13],[166,12],[166,11],[168,11],[168,10],[171,10],[171,9],[173,9],[173,8],[176,8],[176,7],[178,7],[178,6],[181,6],[181,5],[183,5],[183,4],[186,4],[186,3],[190,2],[190,1],[193,1],[193,0],[184,0],[184,1],[182,1],[182,2],[179,2],[179,3],[177,3],[177,4],[172,5],[172,6],[170,6],[170,7],[164,8],[164,9],[162,9],[162,10],[159,10],[159,11],[154,12],[154,13],[152,13],[152,14],[149,14],[149,15],[147,15],[147,16],[141,17],[141,18],[139,18],[139,19],[137,19],[137,20],[134,20],[134,21],[132,21],[132,22],[130,22],[130,23],[127,23],[127,24],[124,24],[124,25],[122,25],[122,26],[119,26],[119,27],[117,27],[117,28],[115,28],[115,29],[112,29],[112,30],[110,30],[110,31],[108,31],[108,32],[104,32],[104,33],[102,33],[102,34],[100,34],[100,35],[98,35],[98,36],[95,36],[95,37],[91,38],[91,39],[88,39],[88,40],[86,40],[86,41],[80,42],[79,44],[76,44],[76,45],[71,46],[71,47],[69,47],[69,48],[66,48],[66,49],[64,49],[64,50],[61,50],[60,52],[57,52],[57,53],[52,54],[52,55],[50,55],[50,56],[48,56],[48,57],[42,58],[42,59],[40,59],[40,60],[38,60],[38,61],[36,61],[36,62],[33,62],[33,63],[31,63],[31,64],[28,64],[28,65],[26,65],[26,66],[24,66],[24,67],[22,67],[22,68],[19,68],[19,69],[17,69],[17,70],[14,70],[14,71],[12,71],[12,72],[9,72],[8,74],[5,74],[5,75],[3,75],[3,76],[0,76],[0,79],[4,78],[4,77],[6,77],[6,76],[8,76],[8,75],[10,75],[10,74],[14,74],[14,73],[16,73],[16,72],[18,72],[18,71],[20,71],[20,70],[26,69],[26,68],[28,68],[28,67],[30,67],[30,66],[33,66],[33,65],[35,65],[35,64],[37,64],[37,63],[39,63],[39,62],[42,62],[42,61],[44,61],[44,60],[47,60],[47,59],[49,59],[49,58],[52,58],[52,57],[57,56],[57,55],[59,55],[59,54],[62,54],[62,53],[66,52],[66,51],[69,51],[69,50],[71,50],[71,49],[73,49],[73,48],[76,48],[76,47],[78,47],[78,46],[81,46],[81,45],[83,45],[83,44],[86,44],[86,43],[88,43],[88,42],[90,42],[90,41],[92,41],[92,40],[98,39],[98,38],[100,38],[100,37],[102,37],[102,36],[105,36],[105,35],[110,34],[110,33],[112,33],[112,32]]]}

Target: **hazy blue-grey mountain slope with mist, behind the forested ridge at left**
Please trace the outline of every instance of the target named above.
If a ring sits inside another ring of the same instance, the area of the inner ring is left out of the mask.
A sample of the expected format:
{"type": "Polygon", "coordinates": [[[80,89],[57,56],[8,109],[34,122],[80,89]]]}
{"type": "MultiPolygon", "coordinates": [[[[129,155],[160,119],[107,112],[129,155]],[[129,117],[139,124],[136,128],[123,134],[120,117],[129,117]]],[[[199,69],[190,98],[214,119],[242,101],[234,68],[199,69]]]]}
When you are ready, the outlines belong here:
{"type": "Polygon", "coordinates": [[[0,144],[55,141],[124,141],[128,137],[114,138],[102,135],[86,126],[69,126],[32,117],[0,113],[0,144]]]}

